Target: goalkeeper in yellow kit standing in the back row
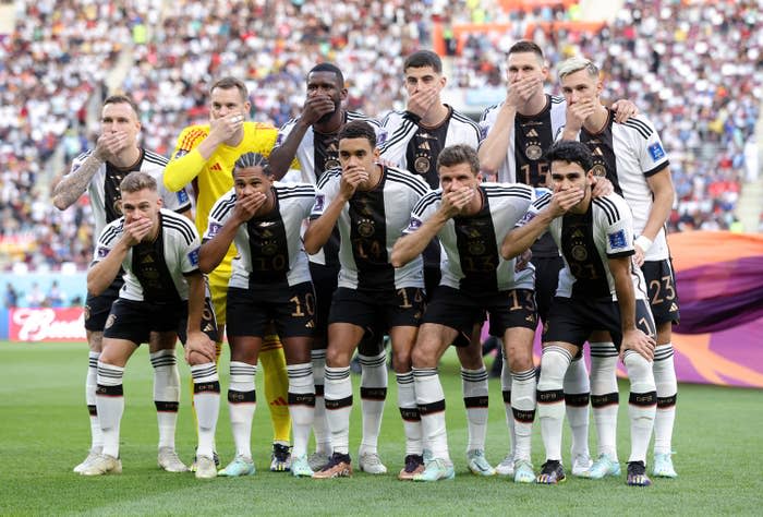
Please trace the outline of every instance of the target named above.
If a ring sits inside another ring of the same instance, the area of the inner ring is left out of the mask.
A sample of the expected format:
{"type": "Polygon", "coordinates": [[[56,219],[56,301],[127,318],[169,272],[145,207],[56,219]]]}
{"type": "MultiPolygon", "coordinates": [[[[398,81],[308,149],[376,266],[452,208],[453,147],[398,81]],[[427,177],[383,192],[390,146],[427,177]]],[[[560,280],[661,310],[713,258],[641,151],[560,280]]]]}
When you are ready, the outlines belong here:
{"type": "MultiPolygon", "coordinates": [[[[164,176],[165,185],[170,191],[193,184],[196,228],[202,233],[207,229],[207,218],[215,202],[233,188],[233,164],[239,156],[247,152],[268,156],[278,135],[278,130],[269,124],[246,121],[251,105],[242,81],[221,79],[213,84],[209,97],[209,123],[183,129],[164,176]]],[[[226,297],[234,256],[235,248],[231,245],[220,265],[208,275],[220,336],[226,325],[226,297]]],[[[220,344],[217,350],[219,358],[220,344]]],[[[270,470],[289,470],[289,381],[283,349],[275,333],[265,338],[259,361],[265,375],[265,397],[272,419],[270,470]]]]}

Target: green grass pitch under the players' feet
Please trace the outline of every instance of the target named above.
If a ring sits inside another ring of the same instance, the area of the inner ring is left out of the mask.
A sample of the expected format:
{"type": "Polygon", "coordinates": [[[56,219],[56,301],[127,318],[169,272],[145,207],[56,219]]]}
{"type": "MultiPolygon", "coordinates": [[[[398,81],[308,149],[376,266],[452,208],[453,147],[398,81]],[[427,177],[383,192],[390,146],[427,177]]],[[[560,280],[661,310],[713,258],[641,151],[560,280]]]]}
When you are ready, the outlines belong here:
{"type": "MultiPolygon", "coordinates": [[[[180,351],[178,352],[180,357],[180,351]]],[[[227,353],[221,384],[227,388],[227,353]]],[[[84,478],[72,467],[86,455],[89,426],[84,407],[87,347],[84,344],[0,342],[0,514],[2,515],[761,515],[763,481],[763,393],[681,385],[674,440],[679,478],[654,480],[649,489],[625,485],[623,478],[589,481],[569,477],[559,486],[516,485],[505,478],[477,478],[467,471],[465,414],[455,354],[440,369],[448,402],[448,437],[457,477],[432,484],[396,479],[403,456],[402,424],[393,375],[379,440],[389,474],[356,473],[352,479],[314,481],[268,471],[271,431],[267,408],[254,417],[253,453],[257,473],[244,479],[197,481],[156,466],[156,414],[146,347],[128,365],[122,420],[121,476],[84,478]]],[[[187,366],[181,364],[183,398],[178,449],[189,460],[195,431],[187,366]]],[[[262,394],[262,375],[257,389],[262,394]]],[[[353,376],[355,400],[360,377],[353,376]]],[[[621,393],[627,386],[621,384],[621,393]]],[[[264,397],[258,397],[262,401],[264,397]]],[[[620,397],[619,455],[628,456],[627,396],[620,397]]],[[[566,431],[567,433],[567,431],[566,431]]],[[[568,433],[567,433],[568,434],[568,433]]],[[[593,429],[592,429],[593,434],[593,429]]],[[[566,436],[568,440],[568,436],[566,436]]],[[[592,436],[592,450],[595,448],[592,436]]],[[[360,408],[352,414],[351,453],[360,442],[360,408]]],[[[497,464],[506,454],[507,431],[500,383],[491,380],[486,454],[497,464]]],[[[233,455],[227,404],[221,405],[217,448],[223,462],[233,455]]],[[[568,442],[562,449],[569,452],[568,442]]],[[[566,457],[569,464],[569,458],[566,457]]],[[[651,459],[651,454],[650,454],[651,459]]],[[[543,446],[536,423],[536,469],[543,446]]],[[[625,465],[623,465],[625,472],[625,465]]]]}

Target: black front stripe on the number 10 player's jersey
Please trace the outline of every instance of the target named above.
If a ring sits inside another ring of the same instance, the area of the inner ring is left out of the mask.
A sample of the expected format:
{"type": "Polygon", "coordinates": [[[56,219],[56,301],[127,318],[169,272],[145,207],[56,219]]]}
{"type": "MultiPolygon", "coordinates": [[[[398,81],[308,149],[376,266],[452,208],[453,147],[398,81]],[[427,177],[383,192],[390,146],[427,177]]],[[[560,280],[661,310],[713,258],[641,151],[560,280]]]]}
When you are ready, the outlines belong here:
{"type": "Polygon", "coordinates": [[[289,243],[281,217],[280,202],[272,190],[275,206],[269,214],[246,221],[249,247],[252,255],[250,286],[287,280],[289,273],[289,243]]]}

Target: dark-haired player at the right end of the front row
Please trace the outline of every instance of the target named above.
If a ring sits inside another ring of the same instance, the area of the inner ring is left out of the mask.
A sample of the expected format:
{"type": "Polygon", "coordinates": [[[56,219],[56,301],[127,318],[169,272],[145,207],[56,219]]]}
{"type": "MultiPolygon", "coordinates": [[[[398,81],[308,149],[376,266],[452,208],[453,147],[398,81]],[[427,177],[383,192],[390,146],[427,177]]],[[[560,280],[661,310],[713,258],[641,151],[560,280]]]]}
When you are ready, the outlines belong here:
{"type": "Polygon", "coordinates": [[[547,154],[553,194],[536,200],[504,240],[501,254],[518,256],[549,231],[565,266],[543,333],[537,413],[546,462],[537,483],[565,481],[561,428],[562,383],[570,361],[594,330],[608,332],[628,369],[631,393],[629,485],[651,484],[645,471],[657,395],[652,373],[655,326],[646,304],[644,278],[632,263],[633,221],[617,194],[593,199],[593,159],[580,142],[561,142],[547,154]]]}

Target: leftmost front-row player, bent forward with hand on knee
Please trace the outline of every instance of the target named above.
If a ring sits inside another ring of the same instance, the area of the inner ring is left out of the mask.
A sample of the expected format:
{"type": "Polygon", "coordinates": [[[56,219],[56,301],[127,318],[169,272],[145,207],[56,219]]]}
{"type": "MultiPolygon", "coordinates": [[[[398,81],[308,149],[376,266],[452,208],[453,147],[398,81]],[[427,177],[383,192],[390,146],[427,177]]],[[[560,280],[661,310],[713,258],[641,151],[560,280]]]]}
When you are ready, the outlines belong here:
{"type": "MultiPolygon", "coordinates": [[[[205,287],[198,270],[198,233],[187,218],[161,208],[156,180],[149,175],[131,172],[120,190],[124,215],[101,232],[87,274],[87,290],[95,296],[109,287],[120,267],[124,287],[111,306],[98,360],[96,405],[104,449],[81,473],[122,471],[119,425],[124,411],[124,366],[155,333],[160,349],[173,351],[178,335],[185,342],[198,413],[196,477],[210,478],[216,474],[211,457],[220,384],[215,342],[202,332],[205,287]]],[[[215,337],[214,317],[206,323],[215,337]]]]}

